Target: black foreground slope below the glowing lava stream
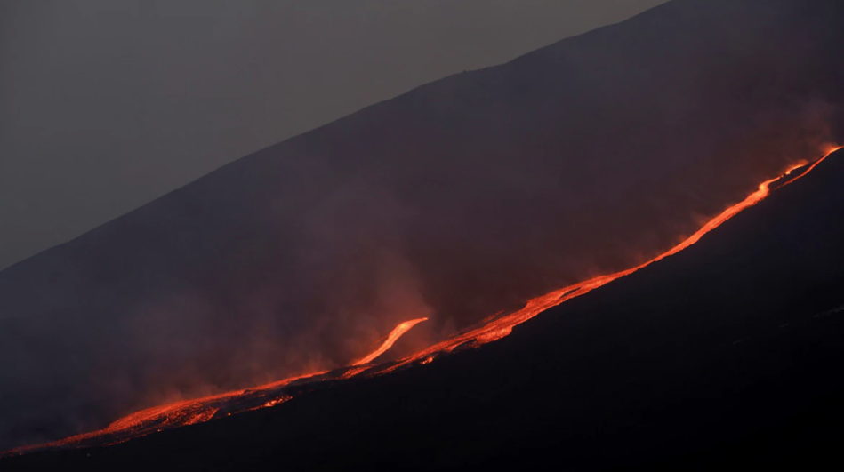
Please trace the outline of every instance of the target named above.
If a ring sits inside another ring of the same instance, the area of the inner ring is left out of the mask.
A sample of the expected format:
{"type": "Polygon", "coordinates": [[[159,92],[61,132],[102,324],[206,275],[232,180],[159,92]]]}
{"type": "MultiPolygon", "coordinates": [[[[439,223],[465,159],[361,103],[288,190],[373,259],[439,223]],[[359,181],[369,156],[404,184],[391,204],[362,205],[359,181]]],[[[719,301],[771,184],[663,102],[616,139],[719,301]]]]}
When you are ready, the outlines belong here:
{"type": "Polygon", "coordinates": [[[840,465],[844,151],[697,244],[404,372],[10,470],[840,465]]]}

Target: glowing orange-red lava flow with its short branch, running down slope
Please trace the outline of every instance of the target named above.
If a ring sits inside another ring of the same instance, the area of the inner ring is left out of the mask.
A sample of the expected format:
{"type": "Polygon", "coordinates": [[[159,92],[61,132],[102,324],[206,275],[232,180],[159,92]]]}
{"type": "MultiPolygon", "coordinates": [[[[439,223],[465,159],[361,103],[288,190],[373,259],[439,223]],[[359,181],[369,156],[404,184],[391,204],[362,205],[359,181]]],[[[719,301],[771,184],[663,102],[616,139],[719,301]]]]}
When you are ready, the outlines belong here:
{"type": "Polygon", "coordinates": [[[670,250],[663,252],[652,260],[648,260],[647,262],[634,268],[629,268],[606,276],[597,276],[577,284],[569,285],[554,292],[547,293],[533,300],[529,300],[524,308],[521,308],[514,313],[487,318],[485,322],[477,328],[454,334],[448,339],[438,342],[430,348],[425,348],[413,356],[406,357],[398,362],[371,364],[377,357],[382,356],[384,352],[390,349],[396,340],[398,340],[403,334],[413,328],[416,324],[426,321],[428,318],[418,318],[398,324],[398,326],[396,326],[396,328],[393,329],[393,331],[390,332],[387,338],[382,342],[382,345],[379,348],[375,349],[370,355],[358,359],[358,361],[348,367],[336,369],[331,372],[317,372],[290,379],[279,380],[261,387],[237,390],[221,395],[206,396],[204,398],[185,400],[173,404],[148,408],[117,420],[111,423],[109,427],[100,431],[68,437],[49,444],[22,447],[10,452],[0,453],[0,456],[62,446],[82,447],[85,445],[117,444],[133,437],[144,436],[165,428],[192,425],[212,420],[214,418],[228,416],[233,413],[246,412],[258,408],[282,404],[301,393],[331,385],[336,381],[346,381],[358,377],[373,377],[393,372],[401,367],[413,364],[430,364],[438,356],[451,353],[457,348],[477,348],[478,346],[488,342],[500,340],[509,335],[514,326],[526,322],[548,308],[555,307],[567,300],[579,297],[584,293],[591,292],[592,290],[609,284],[618,278],[628,276],[640,268],[645,268],[659,260],[663,260],[686,249],[692,244],[697,243],[703,235],[709,233],[715,228],[718,228],[739,212],[744,211],[746,208],[749,208],[754,204],[758,204],[761,200],[770,195],[771,186],[775,182],[782,181],[777,188],[784,188],[785,186],[792,184],[794,181],[807,175],[808,172],[814,170],[816,166],[826,157],[840,149],[841,147],[830,147],[826,149],[824,156],[815,163],[811,165],[808,165],[807,162],[796,164],[784,172],[783,175],[776,177],[775,179],[762,182],[759,188],[750,196],[747,196],[744,201],[730,206],[727,210],[709,220],[705,225],[703,225],[703,228],[697,230],[694,235],[689,236],[682,243],[677,244],[670,250]],[[792,176],[792,174],[798,169],[805,170],[792,176]]]}

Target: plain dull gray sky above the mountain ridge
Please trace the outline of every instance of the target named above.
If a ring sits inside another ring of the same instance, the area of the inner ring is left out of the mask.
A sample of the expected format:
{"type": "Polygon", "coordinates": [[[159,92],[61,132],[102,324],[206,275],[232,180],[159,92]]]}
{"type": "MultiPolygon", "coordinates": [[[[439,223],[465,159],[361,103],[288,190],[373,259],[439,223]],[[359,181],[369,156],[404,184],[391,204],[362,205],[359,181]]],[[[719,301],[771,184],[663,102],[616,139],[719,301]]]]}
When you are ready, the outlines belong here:
{"type": "Polygon", "coordinates": [[[665,0],[0,0],[0,268],[238,157],[665,0]]]}

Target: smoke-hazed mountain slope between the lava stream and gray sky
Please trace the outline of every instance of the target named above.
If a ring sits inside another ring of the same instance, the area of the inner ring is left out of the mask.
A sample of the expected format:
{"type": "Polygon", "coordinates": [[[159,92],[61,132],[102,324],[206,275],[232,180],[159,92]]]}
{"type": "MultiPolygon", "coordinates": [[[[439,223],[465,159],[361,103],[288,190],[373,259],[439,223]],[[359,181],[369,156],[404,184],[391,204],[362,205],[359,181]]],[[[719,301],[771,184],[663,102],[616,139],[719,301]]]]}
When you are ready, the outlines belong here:
{"type": "Polygon", "coordinates": [[[841,134],[840,57],[839,2],[676,0],[247,156],[0,273],[0,446],[631,267],[841,134]]]}

